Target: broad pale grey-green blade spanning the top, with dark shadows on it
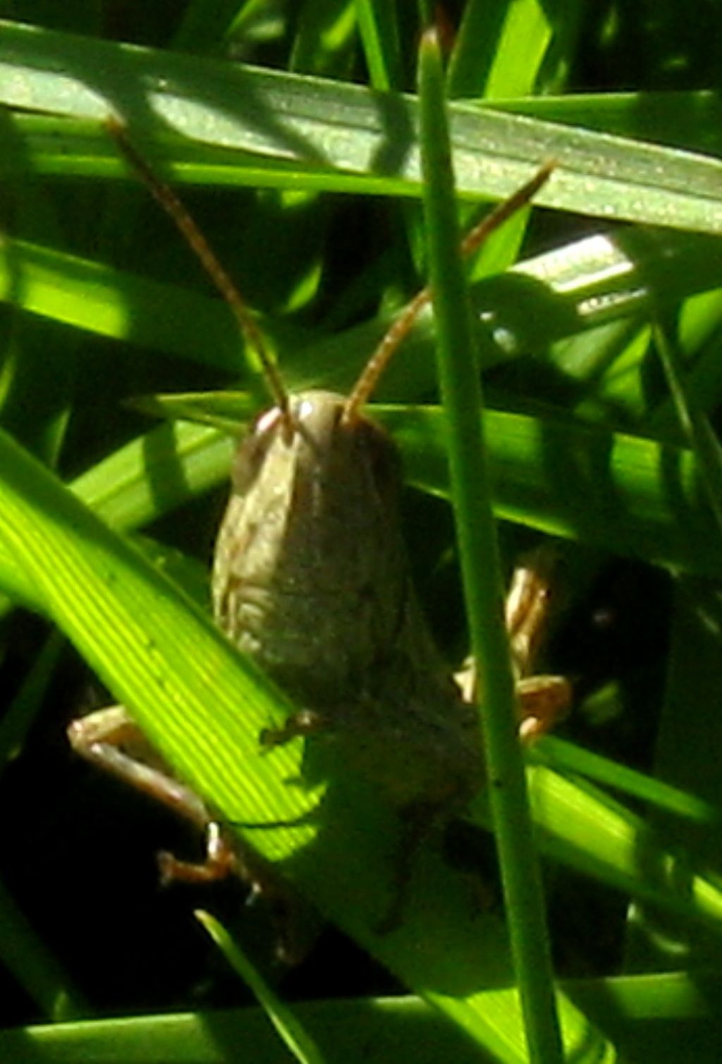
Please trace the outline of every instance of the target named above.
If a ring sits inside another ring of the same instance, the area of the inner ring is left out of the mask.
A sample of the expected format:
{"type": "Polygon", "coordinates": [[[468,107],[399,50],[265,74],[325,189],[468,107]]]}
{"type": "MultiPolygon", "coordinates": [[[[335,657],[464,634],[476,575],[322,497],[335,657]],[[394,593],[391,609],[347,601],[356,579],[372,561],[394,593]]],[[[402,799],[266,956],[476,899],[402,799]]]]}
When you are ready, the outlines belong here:
{"type": "MultiPolygon", "coordinates": [[[[300,162],[317,171],[316,187],[421,192],[418,114],[405,97],[380,107],[360,86],[10,22],[2,26],[0,72],[0,102],[13,106],[97,121],[112,107],[137,130],[170,128],[221,148],[265,153],[282,165],[300,162]],[[139,78],[141,100],[133,87],[139,78]],[[183,85],[192,90],[184,94],[183,85]],[[320,180],[319,167],[326,171],[320,180]]],[[[508,195],[530,168],[554,157],[559,171],[539,197],[544,205],[722,232],[722,165],[716,160],[466,104],[454,104],[450,116],[461,195],[508,195]]],[[[99,143],[102,136],[99,129],[99,143]]]]}

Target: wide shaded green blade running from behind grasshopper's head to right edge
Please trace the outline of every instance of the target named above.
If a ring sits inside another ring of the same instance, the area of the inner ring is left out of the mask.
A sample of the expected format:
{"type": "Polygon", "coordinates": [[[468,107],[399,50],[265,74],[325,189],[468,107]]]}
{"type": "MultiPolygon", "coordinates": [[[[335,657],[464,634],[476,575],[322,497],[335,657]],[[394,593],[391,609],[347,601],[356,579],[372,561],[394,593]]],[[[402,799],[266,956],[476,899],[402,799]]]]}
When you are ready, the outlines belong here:
{"type": "MultiPolygon", "coordinates": [[[[442,414],[383,408],[412,484],[448,496],[442,414]]],[[[553,418],[489,412],[500,517],[628,558],[722,573],[716,525],[691,451],[553,418]],[[679,527],[685,535],[679,535],[679,527]]]]}

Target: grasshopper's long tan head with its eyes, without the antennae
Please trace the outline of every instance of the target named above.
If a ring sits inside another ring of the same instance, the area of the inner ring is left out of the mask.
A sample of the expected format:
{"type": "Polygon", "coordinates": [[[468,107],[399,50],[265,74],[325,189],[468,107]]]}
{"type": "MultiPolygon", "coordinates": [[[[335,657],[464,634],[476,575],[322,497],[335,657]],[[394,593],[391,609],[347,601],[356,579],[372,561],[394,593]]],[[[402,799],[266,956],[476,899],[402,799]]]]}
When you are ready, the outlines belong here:
{"type": "Polygon", "coordinates": [[[221,627],[314,704],[368,682],[408,601],[397,451],[345,406],[305,392],[257,420],[236,453],[214,568],[221,627]]]}

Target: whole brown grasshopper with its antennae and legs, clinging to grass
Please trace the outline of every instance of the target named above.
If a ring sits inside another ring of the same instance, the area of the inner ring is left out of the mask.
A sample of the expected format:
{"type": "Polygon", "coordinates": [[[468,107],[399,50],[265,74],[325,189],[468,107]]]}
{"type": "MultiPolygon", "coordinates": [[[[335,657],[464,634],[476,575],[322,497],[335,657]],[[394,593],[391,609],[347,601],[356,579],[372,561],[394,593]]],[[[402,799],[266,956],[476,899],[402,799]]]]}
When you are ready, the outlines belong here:
{"type": "MultiPolygon", "coordinates": [[[[379,786],[416,836],[423,825],[464,812],[484,782],[480,724],[470,704],[473,679],[467,676],[459,686],[434,645],[412,586],[400,526],[399,455],[363,413],[431,294],[422,289],[402,311],[349,396],[320,390],[289,396],[240,294],[185,206],[138,155],[121,124],[108,124],[121,153],[230,303],[274,399],[237,449],[213,567],[216,621],[302,708],[261,741],[266,746],[296,736],[333,741],[340,760],[379,786]]],[[[464,252],[526,203],[549,171],[543,167],[476,227],[464,252]]],[[[527,569],[507,601],[527,734],[539,730],[550,708],[558,711],[569,701],[566,681],[525,676],[548,596],[545,576],[527,569]]],[[[75,720],[68,734],[88,761],[206,832],[202,864],[161,854],[165,879],[235,874],[256,892],[275,894],[264,861],[173,776],[124,708],[75,720]]],[[[399,908],[394,902],[394,918],[399,908]]]]}

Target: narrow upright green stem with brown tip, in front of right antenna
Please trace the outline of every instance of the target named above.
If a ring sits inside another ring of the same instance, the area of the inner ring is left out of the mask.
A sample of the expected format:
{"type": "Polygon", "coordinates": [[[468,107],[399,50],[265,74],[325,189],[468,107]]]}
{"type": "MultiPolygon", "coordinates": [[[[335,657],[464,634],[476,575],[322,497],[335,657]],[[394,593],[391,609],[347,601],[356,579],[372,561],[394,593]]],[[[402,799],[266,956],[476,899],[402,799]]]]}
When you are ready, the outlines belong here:
{"type": "Polygon", "coordinates": [[[524,767],[517,739],[516,698],[503,624],[482,394],[459,254],[443,76],[433,31],[424,35],[421,45],[419,92],[438,371],[449,421],[449,465],[471,644],[483,678],[490,802],[528,1050],[534,1061],[553,1062],[561,1060],[561,1043],[524,767]]]}

